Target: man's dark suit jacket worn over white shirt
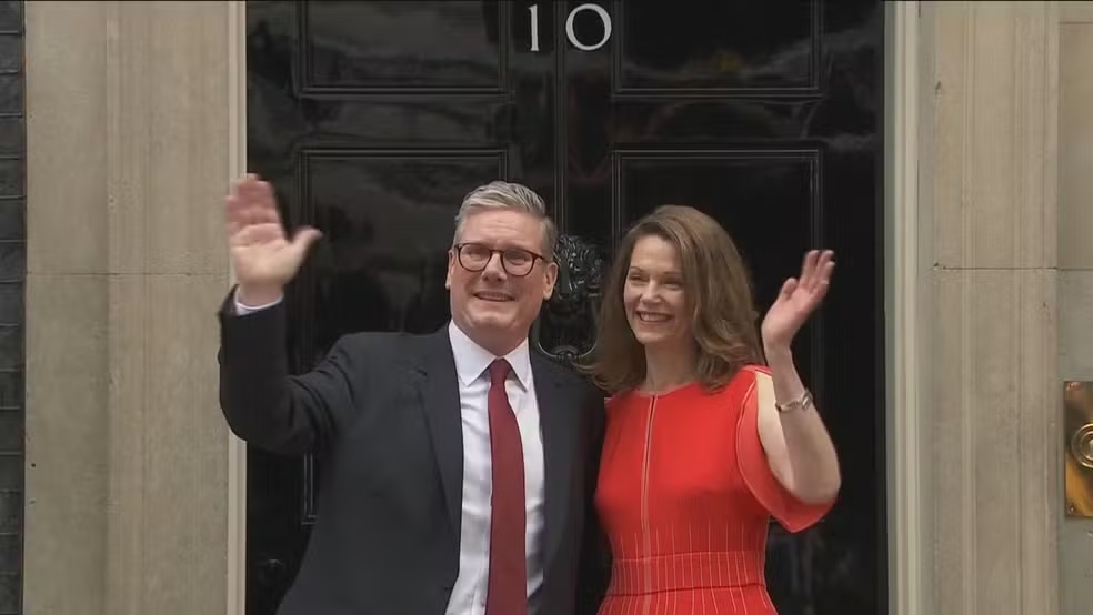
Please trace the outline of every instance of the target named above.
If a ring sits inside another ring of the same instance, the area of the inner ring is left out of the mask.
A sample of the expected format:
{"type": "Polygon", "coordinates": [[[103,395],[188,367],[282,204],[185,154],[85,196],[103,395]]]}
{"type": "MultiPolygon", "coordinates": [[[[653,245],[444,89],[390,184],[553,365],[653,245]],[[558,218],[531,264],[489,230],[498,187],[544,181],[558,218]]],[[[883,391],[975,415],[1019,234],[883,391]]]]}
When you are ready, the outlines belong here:
{"type": "MultiPolygon", "coordinates": [[[[463,480],[455,364],[431,335],[345,335],[290,376],[283,302],[221,306],[220,403],[232,432],[280,454],[315,453],[319,517],[280,615],[443,615],[459,571],[463,480]]],[[[592,496],[602,394],[532,353],[545,465],[541,615],[594,613],[606,584],[592,496]]]]}

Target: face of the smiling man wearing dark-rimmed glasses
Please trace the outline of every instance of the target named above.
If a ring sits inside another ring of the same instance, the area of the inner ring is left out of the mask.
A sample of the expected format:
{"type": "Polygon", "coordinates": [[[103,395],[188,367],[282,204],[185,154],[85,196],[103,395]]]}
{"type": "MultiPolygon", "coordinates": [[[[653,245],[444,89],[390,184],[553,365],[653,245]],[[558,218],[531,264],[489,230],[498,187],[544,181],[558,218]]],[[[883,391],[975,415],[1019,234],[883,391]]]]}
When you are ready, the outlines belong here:
{"type": "Polygon", "coordinates": [[[556,264],[534,256],[530,268],[527,262],[529,254],[542,255],[542,223],[514,210],[481,210],[464,220],[457,244],[464,246],[463,262],[455,248],[449,251],[444,282],[452,319],[475,343],[503,355],[528,336],[554,289],[556,264]],[[508,263],[502,263],[502,253],[508,263]]]}

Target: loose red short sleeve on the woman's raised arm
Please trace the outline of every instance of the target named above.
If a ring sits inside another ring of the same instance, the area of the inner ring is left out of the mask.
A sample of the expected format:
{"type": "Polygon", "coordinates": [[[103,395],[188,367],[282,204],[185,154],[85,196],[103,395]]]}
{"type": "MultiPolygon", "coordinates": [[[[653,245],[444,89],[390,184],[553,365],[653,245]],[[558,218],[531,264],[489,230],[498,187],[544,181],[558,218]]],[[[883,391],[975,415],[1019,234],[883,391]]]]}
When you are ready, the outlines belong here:
{"type": "Polygon", "coordinates": [[[765,367],[748,367],[754,376],[743,397],[743,407],[736,424],[736,463],[744,484],[759,503],[770,512],[782,527],[796,533],[815,525],[834,505],[808,504],[790,493],[771,471],[763,443],[759,437],[759,409],[774,405],[774,389],[770,371],[765,367]]]}

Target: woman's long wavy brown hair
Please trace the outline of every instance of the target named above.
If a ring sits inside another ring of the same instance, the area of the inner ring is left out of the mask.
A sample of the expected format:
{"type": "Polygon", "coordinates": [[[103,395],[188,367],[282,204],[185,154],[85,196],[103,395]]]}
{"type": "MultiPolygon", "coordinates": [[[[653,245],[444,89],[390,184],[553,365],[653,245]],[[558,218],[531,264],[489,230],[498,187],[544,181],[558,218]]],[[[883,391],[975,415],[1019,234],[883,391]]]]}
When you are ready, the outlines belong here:
{"type": "Polygon", "coordinates": [[[645,380],[645,351],[630,329],[622,295],[634,244],[649,235],[674,245],[680,256],[702,386],[720,389],[744,365],[762,363],[751,282],[732,238],[696,209],[662,205],[639,220],[619,244],[600,304],[595,352],[585,367],[595,383],[614,394],[645,380]]]}

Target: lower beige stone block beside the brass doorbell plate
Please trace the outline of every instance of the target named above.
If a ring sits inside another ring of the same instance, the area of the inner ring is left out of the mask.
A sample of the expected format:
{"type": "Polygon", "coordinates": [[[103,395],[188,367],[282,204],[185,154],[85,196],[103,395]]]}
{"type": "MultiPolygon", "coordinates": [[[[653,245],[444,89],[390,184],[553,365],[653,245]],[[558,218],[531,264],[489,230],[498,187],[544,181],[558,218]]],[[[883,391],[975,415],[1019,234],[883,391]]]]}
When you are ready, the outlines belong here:
{"type": "Polygon", "coordinates": [[[933,290],[936,612],[1056,613],[1055,272],[939,270],[933,290]]]}

